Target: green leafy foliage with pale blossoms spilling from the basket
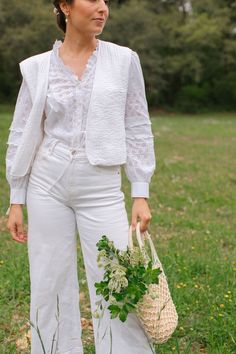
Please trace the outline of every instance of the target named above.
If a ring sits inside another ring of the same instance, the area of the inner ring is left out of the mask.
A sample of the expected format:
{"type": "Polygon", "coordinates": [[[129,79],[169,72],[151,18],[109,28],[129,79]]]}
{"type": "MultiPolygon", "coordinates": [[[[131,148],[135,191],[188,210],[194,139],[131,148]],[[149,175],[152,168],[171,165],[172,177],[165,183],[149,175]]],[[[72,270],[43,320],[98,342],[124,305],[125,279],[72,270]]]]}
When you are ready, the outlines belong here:
{"type": "MultiPolygon", "coordinates": [[[[106,235],[96,244],[98,248],[97,262],[104,267],[103,280],[96,282],[96,294],[102,295],[109,302],[107,307],[111,318],[119,316],[124,322],[129,312],[135,311],[137,303],[142,300],[150,284],[159,283],[159,267],[153,268],[153,263],[146,249],[134,246],[131,250],[119,250],[106,235]]],[[[152,294],[150,294],[152,296],[152,294]]],[[[156,296],[156,295],[155,295],[156,296]]],[[[103,309],[101,301],[98,308],[103,309]]],[[[98,308],[94,317],[100,317],[98,308]]]]}

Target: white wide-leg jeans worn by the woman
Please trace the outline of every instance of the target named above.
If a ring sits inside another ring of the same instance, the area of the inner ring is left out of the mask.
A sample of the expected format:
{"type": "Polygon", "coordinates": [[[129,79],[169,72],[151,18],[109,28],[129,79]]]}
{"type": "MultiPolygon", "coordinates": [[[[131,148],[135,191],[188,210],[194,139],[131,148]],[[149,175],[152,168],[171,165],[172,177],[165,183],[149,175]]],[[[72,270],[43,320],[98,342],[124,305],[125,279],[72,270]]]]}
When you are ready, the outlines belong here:
{"type": "MultiPolygon", "coordinates": [[[[93,166],[84,149],[71,150],[57,139],[44,138],[26,198],[30,321],[35,326],[31,326],[31,354],[51,353],[53,339],[53,353],[82,354],[77,232],[94,311],[101,298],[94,283],[102,280],[104,272],[97,265],[96,243],[107,235],[119,249],[126,250],[128,245],[121,166],[93,166]]],[[[106,310],[99,338],[99,319],[92,316],[92,321],[96,354],[110,354],[111,344],[112,354],[152,353],[135,314],[130,313],[122,322],[110,319],[106,310]]]]}

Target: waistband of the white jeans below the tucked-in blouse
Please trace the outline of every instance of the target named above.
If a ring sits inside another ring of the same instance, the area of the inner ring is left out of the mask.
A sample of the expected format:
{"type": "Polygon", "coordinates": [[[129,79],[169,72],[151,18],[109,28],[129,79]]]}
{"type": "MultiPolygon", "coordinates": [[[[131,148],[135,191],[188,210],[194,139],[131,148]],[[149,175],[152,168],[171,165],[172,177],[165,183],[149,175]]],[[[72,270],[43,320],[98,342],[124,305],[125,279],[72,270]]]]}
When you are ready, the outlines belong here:
{"type": "Polygon", "coordinates": [[[42,149],[46,149],[49,154],[52,154],[55,151],[66,157],[68,156],[69,158],[87,158],[85,147],[71,147],[57,138],[44,138],[40,148],[41,147],[42,149]]]}

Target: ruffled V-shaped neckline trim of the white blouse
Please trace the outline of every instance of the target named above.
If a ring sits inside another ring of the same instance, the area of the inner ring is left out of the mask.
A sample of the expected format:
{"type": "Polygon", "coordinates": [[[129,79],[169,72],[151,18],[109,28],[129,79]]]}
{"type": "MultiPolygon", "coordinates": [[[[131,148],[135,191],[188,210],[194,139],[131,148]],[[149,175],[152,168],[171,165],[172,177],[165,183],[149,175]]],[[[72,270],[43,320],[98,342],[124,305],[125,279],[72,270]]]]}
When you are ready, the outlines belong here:
{"type": "Polygon", "coordinates": [[[97,51],[99,49],[100,39],[97,38],[97,45],[94,48],[94,50],[92,51],[92,53],[90,54],[89,58],[87,59],[86,65],[85,65],[84,70],[83,70],[83,72],[82,72],[80,77],[78,77],[78,75],[75,73],[75,71],[70,66],[68,66],[68,65],[66,65],[64,63],[62,57],[60,56],[59,48],[62,45],[62,43],[63,42],[61,40],[56,40],[55,43],[54,43],[55,54],[57,56],[57,59],[58,59],[60,65],[61,65],[61,67],[64,68],[68,73],[70,73],[74,77],[76,82],[79,82],[79,83],[83,82],[84,77],[85,77],[85,75],[86,75],[86,73],[88,71],[89,65],[90,65],[91,61],[93,60],[93,57],[95,56],[95,54],[97,54],[97,51]]]}

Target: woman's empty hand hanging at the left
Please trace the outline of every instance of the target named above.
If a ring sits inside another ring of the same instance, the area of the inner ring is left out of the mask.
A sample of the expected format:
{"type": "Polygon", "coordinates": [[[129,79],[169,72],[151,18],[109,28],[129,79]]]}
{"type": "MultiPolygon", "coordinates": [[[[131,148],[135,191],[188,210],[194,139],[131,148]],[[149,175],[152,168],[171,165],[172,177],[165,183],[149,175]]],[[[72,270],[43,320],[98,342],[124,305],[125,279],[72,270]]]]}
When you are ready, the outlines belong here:
{"type": "Polygon", "coordinates": [[[27,241],[27,233],[24,232],[23,229],[22,204],[11,204],[7,228],[10,231],[13,240],[20,243],[27,241]]]}

